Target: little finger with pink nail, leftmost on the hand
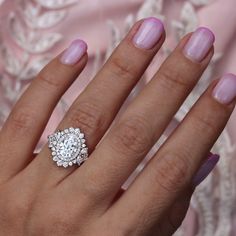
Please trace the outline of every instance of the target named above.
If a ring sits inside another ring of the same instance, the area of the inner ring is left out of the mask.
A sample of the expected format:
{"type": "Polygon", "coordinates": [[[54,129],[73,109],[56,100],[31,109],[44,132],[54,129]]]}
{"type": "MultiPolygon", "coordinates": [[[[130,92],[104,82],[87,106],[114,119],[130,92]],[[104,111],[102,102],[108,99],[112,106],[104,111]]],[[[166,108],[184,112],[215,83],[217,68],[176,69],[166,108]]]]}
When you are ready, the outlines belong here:
{"type": "Polygon", "coordinates": [[[84,68],[86,50],[82,40],[74,41],[39,73],[15,105],[0,134],[1,179],[15,175],[32,158],[56,104],[84,68]]]}

